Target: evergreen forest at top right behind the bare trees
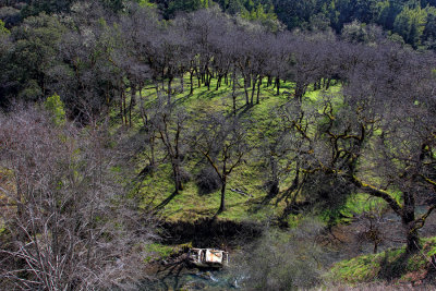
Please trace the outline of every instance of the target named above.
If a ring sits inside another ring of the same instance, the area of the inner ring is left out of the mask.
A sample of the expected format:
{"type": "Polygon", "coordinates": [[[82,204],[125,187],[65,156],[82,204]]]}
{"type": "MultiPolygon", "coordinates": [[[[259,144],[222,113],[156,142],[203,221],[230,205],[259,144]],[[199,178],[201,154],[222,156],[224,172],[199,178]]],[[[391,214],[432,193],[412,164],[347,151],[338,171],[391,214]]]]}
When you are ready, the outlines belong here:
{"type": "MultiPolygon", "coordinates": [[[[334,29],[340,34],[346,24],[358,33],[366,25],[376,24],[388,31],[392,38],[403,39],[413,48],[435,48],[436,2],[428,1],[274,1],[228,0],[216,1],[229,14],[257,20],[278,27],[277,20],[290,31],[334,29]]],[[[178,11],[194,11],[209,5],[208,1],[156,1],[166,17],[178,11]]]]}

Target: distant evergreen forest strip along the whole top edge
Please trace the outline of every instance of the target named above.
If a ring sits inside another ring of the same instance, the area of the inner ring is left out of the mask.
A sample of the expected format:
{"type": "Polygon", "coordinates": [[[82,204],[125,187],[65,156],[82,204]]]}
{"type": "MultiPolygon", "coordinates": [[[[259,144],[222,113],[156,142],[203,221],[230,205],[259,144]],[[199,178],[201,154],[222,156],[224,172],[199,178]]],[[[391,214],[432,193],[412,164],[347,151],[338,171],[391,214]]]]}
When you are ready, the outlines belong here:
{"type": "MultiPolygon", "coordinates": [[[[0,17],[8,28],[21,20],[40,12],[69,12],[74,1],[2,1],[0,17]]],[[[305,31],[334,29],[340,34],[344,25],[358,33],[366,25],[375,24],[389,32],[397,40],[413,48],[435,49],[436,47],[436,2],[434,0],[400,1],[346,1],[346,0],[147,0],[142,4],[155,5],[165,19],[172,19],[181,12],[192,12],[218,3],[226,13],[258,21],[264,25],[288,29],[305,31]],[[281,23],[279,24],[278,21],[281,23]]],[[[125,9],[125,1],[108,0],[101,3],[112,11],[125,9]]]]}

